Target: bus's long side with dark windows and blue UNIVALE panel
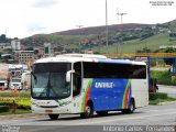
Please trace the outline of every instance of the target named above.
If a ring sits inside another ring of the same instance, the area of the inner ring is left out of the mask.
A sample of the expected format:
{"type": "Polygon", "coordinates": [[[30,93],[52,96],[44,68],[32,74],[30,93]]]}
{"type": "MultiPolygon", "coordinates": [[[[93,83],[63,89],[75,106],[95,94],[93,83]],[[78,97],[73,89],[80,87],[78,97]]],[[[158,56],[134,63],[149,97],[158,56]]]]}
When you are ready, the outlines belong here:
{"type": "MultiPolygon", "coordinates": [[[[121,110],[132,113],[148,105],[147,72],[144,63],[125,61],[84,62],[85,103],[98,114],[121,110]],[[91,79],[90,79],[91,78],[91,79]],[[92,107],[92,108],[91,108],[92,107]]],[[[91,112],[90,112],[91,113],[91,112]]]]}

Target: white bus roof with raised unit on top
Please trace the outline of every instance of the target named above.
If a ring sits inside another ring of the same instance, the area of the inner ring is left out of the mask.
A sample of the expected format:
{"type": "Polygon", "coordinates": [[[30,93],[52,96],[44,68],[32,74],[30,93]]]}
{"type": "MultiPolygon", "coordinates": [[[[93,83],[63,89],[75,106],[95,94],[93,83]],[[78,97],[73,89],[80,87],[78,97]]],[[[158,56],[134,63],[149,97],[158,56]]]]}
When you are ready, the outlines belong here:
{"type": "Polygon", "coordinates": [[[35,63],[76,63],[76,62],[92,62],[92,63],[112,63],[112,64],[133,64],[146,65],[144,62],[134,62],[130,59],[111,59],[103,55],[88,55],[88,54],[63,54],[56,57],[46,57],[35,61],[35,63]]]}

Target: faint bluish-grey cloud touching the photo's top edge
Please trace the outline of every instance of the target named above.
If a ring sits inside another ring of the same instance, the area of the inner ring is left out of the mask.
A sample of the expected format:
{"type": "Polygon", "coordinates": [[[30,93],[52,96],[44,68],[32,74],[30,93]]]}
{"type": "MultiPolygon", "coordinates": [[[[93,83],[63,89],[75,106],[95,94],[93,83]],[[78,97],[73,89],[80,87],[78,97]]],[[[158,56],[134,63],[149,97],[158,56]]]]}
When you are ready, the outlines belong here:
{"type": "Polygon", "coordinates": [[[34,8],[45,8],[55,6],[58,0],[34,0],[32,7],[34,8]]]}

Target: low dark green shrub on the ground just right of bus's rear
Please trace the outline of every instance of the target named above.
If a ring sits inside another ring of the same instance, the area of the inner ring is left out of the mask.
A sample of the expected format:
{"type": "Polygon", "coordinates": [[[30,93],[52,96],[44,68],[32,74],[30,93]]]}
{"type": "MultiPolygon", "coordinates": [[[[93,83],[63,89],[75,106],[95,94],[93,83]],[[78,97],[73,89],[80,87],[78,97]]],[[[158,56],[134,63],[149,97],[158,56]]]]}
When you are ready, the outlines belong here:
{"type": "Polygon", "coordinates": [[[151,92],[150,94],[150,100],[156,100],[156,99],[167,99],[167,94],[151,92]]]}

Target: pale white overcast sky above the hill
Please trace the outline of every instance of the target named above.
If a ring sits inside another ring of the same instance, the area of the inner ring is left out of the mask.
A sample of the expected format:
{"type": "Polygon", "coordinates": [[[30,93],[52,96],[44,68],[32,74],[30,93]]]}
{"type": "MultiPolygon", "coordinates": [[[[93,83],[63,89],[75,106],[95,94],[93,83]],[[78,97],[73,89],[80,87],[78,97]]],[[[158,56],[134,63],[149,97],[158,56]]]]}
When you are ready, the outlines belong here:
{"type": "MultiPolygon", "coordinates": [[[[176,0],[107,0],[108,25],[164,23],[176,19],[176,0]],[[167,6],[153,6],[164,1],[167,6]],[[168,6],[172,2],[172,6],[168,6]]],[[[0,34],[28,37],[40,33],[106,25],[106,0],[0,0],[0,34]]]]}

